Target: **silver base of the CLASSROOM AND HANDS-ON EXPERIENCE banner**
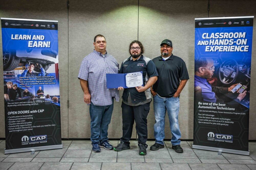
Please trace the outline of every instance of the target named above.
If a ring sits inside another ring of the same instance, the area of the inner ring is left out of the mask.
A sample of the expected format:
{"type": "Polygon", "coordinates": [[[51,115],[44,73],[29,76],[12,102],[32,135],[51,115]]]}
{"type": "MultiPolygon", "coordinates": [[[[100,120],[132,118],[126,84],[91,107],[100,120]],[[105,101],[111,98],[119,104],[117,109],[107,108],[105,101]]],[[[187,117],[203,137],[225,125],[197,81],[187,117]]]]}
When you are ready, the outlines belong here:
{"type": "Polygon", "coordinates": [[[192,144],[193,149],[202,149],[202,150],[208,150],[208,151],[216,151],[216,152],[226,152],[226,153],[234,153],[234,154],[240,154],[240,155],[250,155],[250,151],[239,151],[239,150],[232,150],[232,149],[224,149],[224,148],[214,148],[209,146],[199,146],[192,144]]]}

